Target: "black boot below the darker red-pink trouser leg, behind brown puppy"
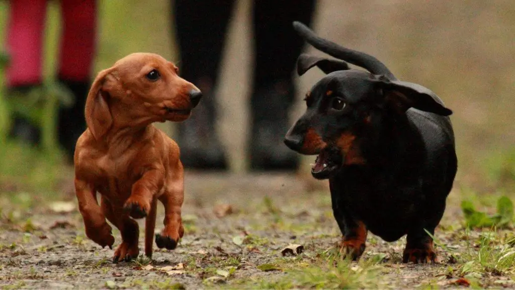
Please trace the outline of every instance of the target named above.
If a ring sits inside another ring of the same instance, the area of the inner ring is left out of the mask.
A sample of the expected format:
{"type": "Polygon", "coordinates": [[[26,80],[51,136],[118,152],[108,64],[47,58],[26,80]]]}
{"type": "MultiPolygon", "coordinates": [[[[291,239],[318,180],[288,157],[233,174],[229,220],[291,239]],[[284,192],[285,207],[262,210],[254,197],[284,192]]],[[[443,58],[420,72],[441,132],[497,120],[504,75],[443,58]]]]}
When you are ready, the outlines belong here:
{"type": "Polygon", "coordinates": [[[59,107],[57,135],[59,144],[64,149],[68,160],[73,160],[75,144],[86,128],[84,106],[89,91],[89,82],[74,82],[60,79],[60,82],[73,93],[74,103],[71,107],[59,107]]]}

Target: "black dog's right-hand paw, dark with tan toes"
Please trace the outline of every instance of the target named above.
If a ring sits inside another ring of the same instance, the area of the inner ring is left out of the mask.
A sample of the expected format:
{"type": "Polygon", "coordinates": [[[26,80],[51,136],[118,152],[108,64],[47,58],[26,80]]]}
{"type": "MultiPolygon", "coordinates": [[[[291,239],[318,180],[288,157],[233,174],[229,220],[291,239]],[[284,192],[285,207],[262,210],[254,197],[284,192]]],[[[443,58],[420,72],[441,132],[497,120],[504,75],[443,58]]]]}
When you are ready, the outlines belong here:
{"type": "MultiPolygon", "coordinates": [[[[429,231],[434,234],[435,230],[429,231]]],[[[433,249],[433,239],[422,229],[408,233],[406,248],[402,255],[402,262],[408,263],[435,263],[436,253],[433,249]]]]}

